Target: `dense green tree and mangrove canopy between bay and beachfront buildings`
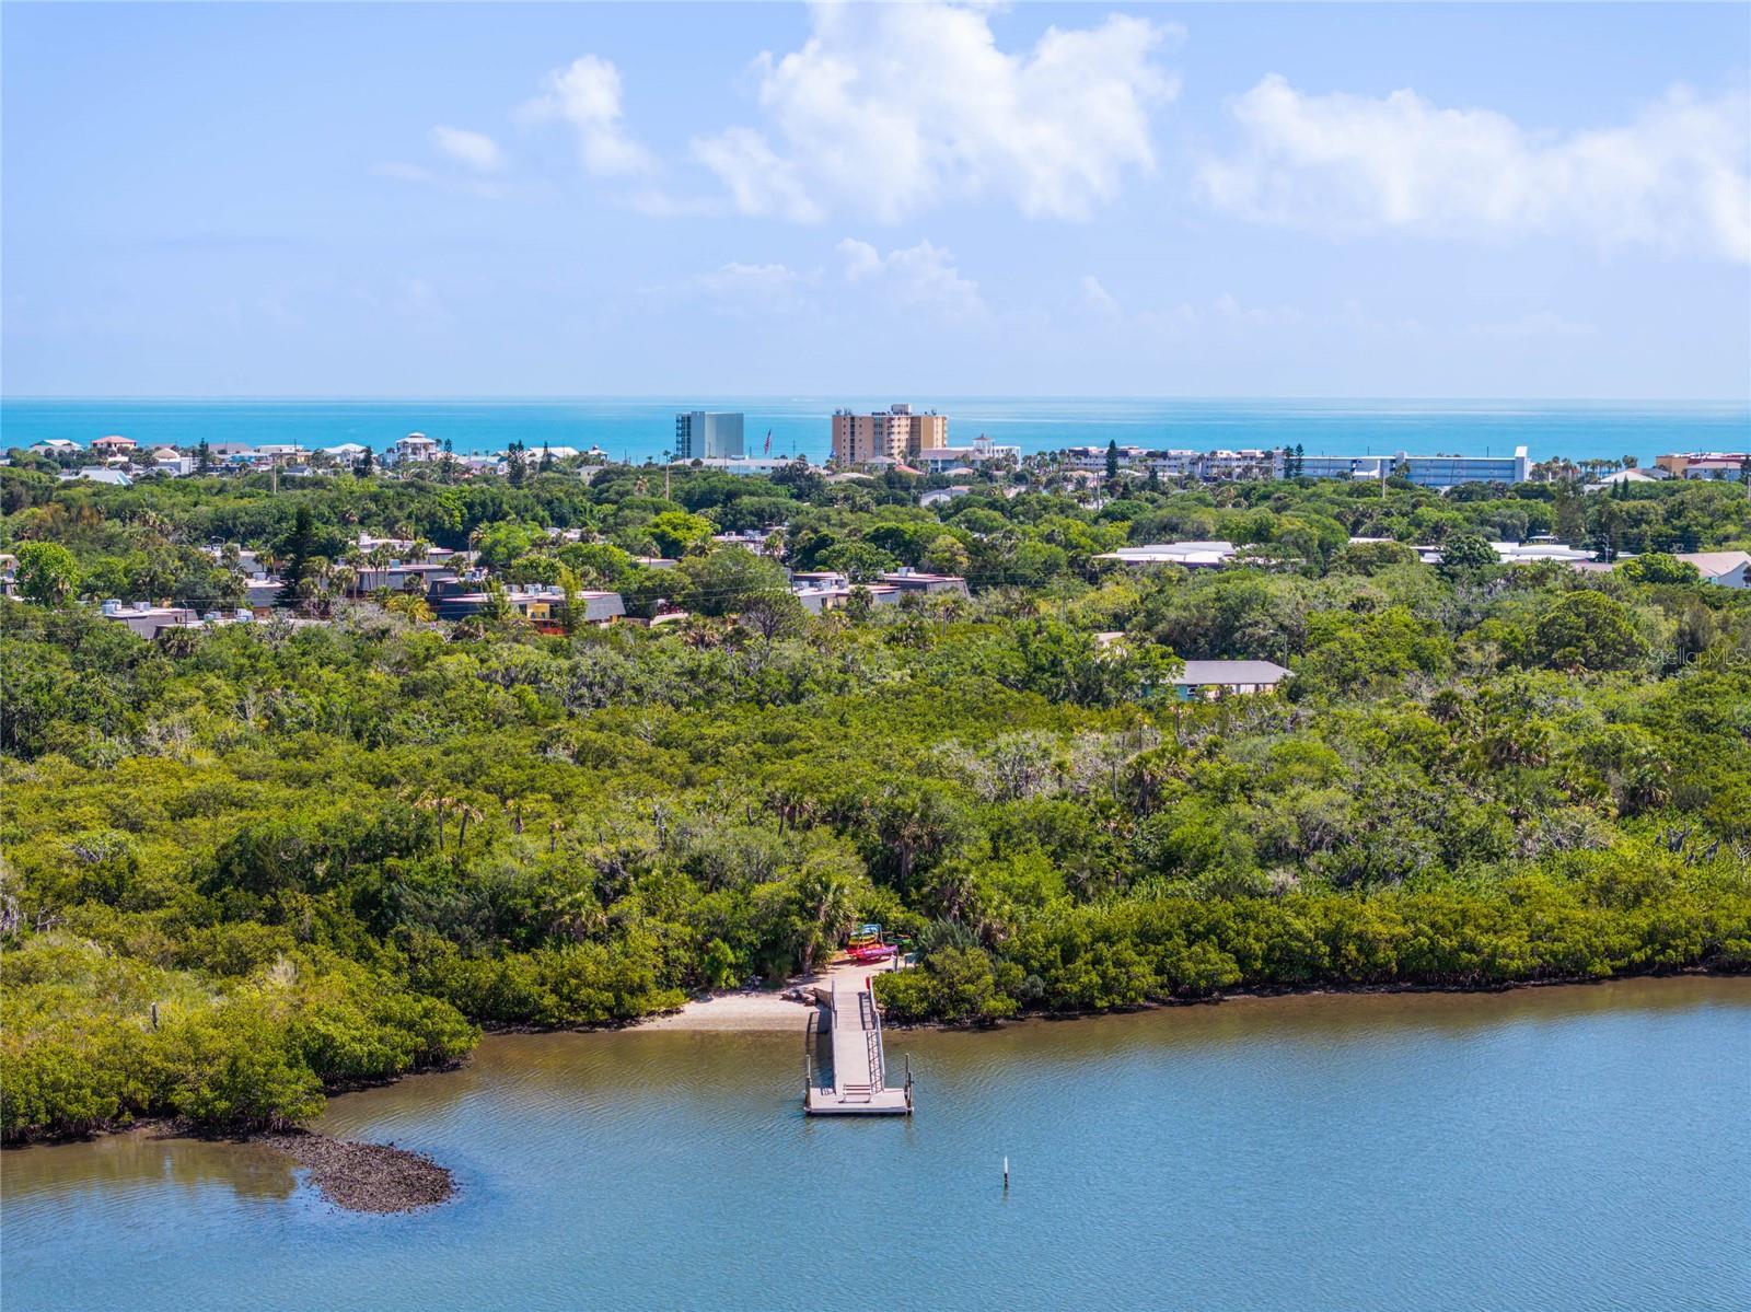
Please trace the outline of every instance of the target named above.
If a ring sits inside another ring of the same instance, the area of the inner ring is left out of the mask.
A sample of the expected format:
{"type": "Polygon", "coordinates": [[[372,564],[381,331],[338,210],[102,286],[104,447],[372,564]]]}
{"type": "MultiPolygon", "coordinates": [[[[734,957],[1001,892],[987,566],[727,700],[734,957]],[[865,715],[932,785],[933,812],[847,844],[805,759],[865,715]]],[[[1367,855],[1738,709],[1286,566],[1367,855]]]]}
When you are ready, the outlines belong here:
{"type": "Polygon", "coordinates": [[[67,587],[0,601],[0,1128],[298,1121],[482,1025],[777,981],[861,920],[918,948],[895,1018],[968,1023],[1751,965],[1751,601],[1655,554],[1742,543],[1740,489],[1611,497],[1646,564],[1578,573],[1404,547],[1558,510],[1586,534],[1602,497],[1574,489],[1084,504],[1056,478],[923,510],[904,475],[678,469],[665,499],[662,471],[538,461],[278,496],[9,468],[21,583],[30,559],[67,587]],[[707,541],[779,522],[795,568],[972,596],[804,615],[781,564],[707,541]],[[667,526],[679,564],[634,564],[667,526]],[[692,618],[543,636],[336,594],[326,624],[152,643],[39,604],[221,596],[228,545],[327,587],[361,531],[692,618]],[[1254,564],[1096,559],[1220,536],[1254,564]],[[1178,694],[1220,657],[1294,676],[1178,694]]]}

